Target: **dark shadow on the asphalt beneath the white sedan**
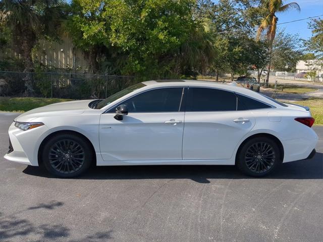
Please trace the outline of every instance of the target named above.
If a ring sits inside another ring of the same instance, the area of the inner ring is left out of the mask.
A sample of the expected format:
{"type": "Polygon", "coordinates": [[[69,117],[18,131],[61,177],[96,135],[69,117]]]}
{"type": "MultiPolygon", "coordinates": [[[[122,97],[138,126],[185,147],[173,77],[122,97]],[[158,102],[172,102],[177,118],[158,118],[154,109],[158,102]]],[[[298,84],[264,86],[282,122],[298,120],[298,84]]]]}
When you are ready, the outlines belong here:
{"type": "MultiPolygon", "coordinates": [[[[44,168],[28,166],[25,174],[57,178],[44,168]]],[[[209,183],[209,179],[322,179],[323,154],[316,153],[310,160],[299,160],[280,165],[272,174],[250,177],[231,165],[138,165],[96,166],[84,175],[73,179],[192,179],[197,183],[209,183]]]]}

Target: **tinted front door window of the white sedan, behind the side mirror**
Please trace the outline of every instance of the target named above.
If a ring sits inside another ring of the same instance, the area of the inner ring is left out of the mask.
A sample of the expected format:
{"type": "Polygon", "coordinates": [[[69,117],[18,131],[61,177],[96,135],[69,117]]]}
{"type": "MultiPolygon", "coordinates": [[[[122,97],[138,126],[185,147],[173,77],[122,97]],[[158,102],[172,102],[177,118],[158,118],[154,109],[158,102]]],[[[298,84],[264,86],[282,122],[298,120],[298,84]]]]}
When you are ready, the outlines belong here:
{"type": "Polygon", "coordinates": [[[121,104],[128,106],[129,112],[178,112],[183,88],[161,88],[147,91],[121,104]]]}

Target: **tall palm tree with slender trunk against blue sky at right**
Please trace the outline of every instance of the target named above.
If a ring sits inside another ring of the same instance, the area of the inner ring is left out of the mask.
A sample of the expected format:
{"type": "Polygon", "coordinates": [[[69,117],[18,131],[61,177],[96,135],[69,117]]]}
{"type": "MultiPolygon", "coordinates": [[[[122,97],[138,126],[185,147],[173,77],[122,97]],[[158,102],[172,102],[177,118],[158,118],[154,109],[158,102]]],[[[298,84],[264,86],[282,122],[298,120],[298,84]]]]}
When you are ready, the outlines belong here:
{"type": "Polygon", "coordinates": [[[266,77],[266,83],[268,83],[269,75],[271,71],[271,65],[272,65],[273,42],[276,36],[276,29],[277,29],[277,22],[278,22],[276,13],[282,13],[292,9],[300,11],[300,7],[295,2],[283,5],[283,0],[264,0],[263,8],[265,9],[265,12],[267,15],[259,25],[256,39],[259,40],[262,32],[266,31],[266,39],[268,41],[269,54],[270,54],[267,77],[266,77]]]}

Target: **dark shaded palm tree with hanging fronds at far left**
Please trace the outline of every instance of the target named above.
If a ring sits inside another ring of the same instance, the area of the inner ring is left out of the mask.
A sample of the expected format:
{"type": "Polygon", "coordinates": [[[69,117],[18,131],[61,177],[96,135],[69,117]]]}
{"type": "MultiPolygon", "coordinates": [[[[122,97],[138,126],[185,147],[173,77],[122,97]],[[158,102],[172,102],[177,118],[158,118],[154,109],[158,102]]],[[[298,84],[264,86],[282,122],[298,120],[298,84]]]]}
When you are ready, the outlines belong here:
{"type": "Polygon", "coordinates": [[[11,29],[14,51],[24,61],[26,95],[33,93],[32,49],[40,38],[56,36],[63,16],[61,0],[2,0],[0,26],[11,29]]]}

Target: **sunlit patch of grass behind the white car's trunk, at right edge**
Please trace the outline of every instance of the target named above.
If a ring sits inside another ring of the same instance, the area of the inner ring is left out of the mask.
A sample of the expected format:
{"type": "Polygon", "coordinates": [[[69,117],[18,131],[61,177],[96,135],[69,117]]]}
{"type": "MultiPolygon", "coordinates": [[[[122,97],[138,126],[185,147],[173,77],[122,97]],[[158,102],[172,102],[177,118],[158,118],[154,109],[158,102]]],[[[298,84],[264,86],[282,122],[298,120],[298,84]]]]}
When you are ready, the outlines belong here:
{"type": "MultiPolygon", "coordinates": [[[[286,102],[286,100],[281,101],[286,102]]],[[[314,125],[323,125],[323,98],[309,98],[304,101],[296,101],[291,103],[308,106],[312,116],[315,118],[314,125]]]]}

